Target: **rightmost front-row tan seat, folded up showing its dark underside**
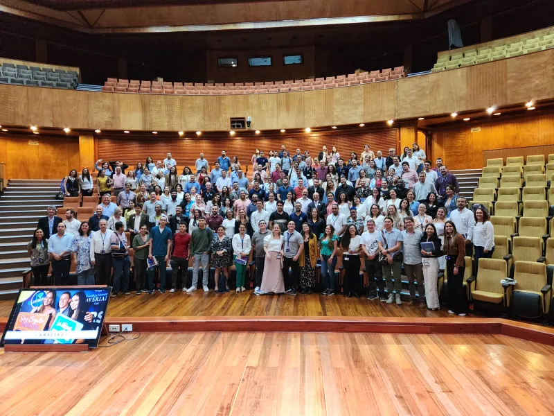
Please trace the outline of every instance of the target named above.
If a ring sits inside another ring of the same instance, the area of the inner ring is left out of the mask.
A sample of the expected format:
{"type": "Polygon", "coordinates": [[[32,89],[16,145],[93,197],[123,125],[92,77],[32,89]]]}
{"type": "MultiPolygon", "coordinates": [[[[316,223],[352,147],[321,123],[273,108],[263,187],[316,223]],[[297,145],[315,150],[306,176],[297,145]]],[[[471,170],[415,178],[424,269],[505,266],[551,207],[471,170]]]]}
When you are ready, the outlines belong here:
{"type": "Polygon", "coordinates": [[[540,318],[550,310],[552,286],[548,284],[546,265],[533,261],[515,263],[511,311],[523,318],[540,318]]]}

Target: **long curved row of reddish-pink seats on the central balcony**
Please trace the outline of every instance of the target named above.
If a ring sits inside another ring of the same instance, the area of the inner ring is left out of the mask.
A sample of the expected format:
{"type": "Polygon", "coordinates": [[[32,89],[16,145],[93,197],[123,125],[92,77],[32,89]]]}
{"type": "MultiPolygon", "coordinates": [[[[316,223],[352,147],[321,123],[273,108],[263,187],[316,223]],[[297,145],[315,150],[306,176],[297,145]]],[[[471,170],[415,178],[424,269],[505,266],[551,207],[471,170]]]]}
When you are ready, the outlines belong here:
{"type": "Polygon", "coordinates": [[[179,94],[179,95],[220,95],[220,94],[263,94],[290,91],[307,91],[346,87],[386,80],[395,80],[406,76],[404,67],[384,69],[383,71],[349,73],[348,75],[315,78],[307,80],[269,81],[260,83],[170,83],[157,81],[123,80],[108,78],[102,87],[104,92],[130,92],[141,94],[179,94]]]}

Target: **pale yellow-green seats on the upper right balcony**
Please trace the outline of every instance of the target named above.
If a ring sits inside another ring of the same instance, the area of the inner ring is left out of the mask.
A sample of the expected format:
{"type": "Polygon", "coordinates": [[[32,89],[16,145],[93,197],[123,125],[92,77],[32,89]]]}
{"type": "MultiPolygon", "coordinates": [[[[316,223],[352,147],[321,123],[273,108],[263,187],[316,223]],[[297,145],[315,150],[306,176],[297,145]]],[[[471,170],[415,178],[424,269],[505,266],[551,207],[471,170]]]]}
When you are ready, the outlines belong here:
{"type": "Polygon", "coordinates": [[[512,58],[526,53],[544,51],[554,48],[554,31],[547,35],[521,37],[519,42],[504,43],[499,40],[494,46],[483,46],[477,49],[467,49],[457,52],[455,49],[449,54],[440,55],[431,72],[440,72],[447,69],[469,67],[474,64],[490,62],[499,59],[512,58]]]}

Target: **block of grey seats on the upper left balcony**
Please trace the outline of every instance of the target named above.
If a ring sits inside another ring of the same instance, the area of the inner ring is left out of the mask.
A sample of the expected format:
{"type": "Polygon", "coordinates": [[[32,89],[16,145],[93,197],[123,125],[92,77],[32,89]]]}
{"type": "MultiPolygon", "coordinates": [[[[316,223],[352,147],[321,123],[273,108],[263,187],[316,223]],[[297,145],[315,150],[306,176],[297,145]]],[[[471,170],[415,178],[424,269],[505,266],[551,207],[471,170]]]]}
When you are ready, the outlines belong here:
{"type": "Polygon", "coordinates": [[[76,71],[64,71],[47,67],[27,67],[26,65],[14,65],[2,63],[0,67],[0,83],[31,85],[35,87],[50,87],[75,89],[78,84],[76,71]]]}

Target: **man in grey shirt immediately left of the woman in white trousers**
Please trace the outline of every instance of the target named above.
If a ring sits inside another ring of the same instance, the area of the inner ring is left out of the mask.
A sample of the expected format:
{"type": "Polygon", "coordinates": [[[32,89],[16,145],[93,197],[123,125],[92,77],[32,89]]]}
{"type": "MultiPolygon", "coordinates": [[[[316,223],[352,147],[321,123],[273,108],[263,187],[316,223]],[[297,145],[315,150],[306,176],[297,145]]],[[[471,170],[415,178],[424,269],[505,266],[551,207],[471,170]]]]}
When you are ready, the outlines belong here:
{"type": "Polygon", "coordinates": [[[423,233],[415,229],[413,218],[404,218],[404,231],[402,232],[402,252],[404,252],[404,272],[408,277],[410,302],[408,306],[415,304],[415,285],[418,282],[418,295],[420,308],[427,307],[425,303],[425,285],[423,281],[423,269],[421,262],[421,237],[423,233]]]}

